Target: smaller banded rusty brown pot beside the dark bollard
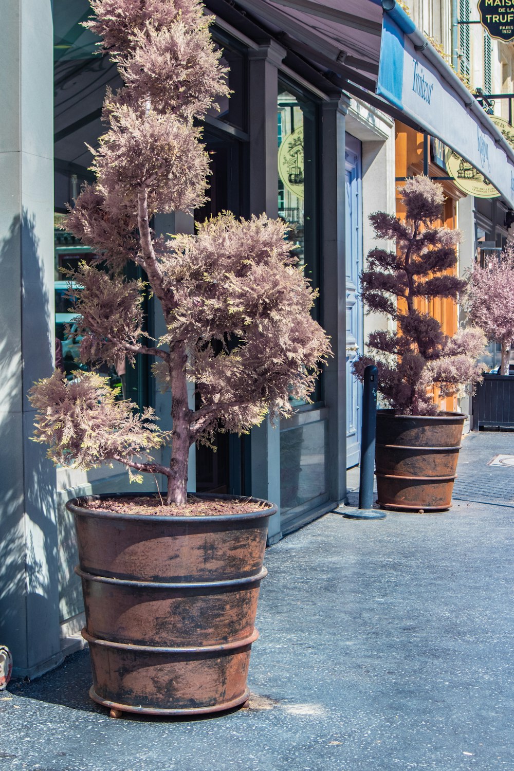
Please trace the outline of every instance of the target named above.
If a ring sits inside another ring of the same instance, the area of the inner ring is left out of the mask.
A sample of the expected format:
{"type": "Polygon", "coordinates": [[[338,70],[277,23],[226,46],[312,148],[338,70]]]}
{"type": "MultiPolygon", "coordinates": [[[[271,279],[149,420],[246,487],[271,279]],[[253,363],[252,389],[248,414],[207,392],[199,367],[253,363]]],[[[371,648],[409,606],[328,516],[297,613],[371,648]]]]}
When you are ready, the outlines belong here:
{"type": "Polygon", "coordinates": [[[465,418],[460,412],[432,417],[378,410],[375,473],[382,508],[443,511],[452,506],[465,418]]]}

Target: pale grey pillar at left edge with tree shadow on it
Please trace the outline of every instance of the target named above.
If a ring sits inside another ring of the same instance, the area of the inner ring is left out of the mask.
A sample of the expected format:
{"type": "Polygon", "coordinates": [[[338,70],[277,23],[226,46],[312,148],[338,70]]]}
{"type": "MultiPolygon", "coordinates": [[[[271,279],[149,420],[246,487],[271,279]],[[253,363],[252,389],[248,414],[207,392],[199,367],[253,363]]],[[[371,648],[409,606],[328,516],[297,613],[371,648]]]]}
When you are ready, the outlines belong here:
{"type": "Polygon", "coordinates": [[[52,2],[0,0],[0,18],[0,641],[35,677],[62,661],[55,469],[26,396],[55,352],[52,2]]]}

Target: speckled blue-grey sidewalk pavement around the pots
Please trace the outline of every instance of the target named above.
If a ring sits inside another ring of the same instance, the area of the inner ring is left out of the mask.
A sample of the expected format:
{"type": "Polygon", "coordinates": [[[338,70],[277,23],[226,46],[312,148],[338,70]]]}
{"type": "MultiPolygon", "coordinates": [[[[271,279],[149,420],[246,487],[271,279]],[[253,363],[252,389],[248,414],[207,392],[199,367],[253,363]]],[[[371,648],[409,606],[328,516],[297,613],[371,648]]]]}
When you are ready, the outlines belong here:
{"type": "Polygon", "coordinates": [[[514,769],[514,434],[465,437],[451,511],[329,513],[267,550],[250,709],[126,715],[88,651],[0,692],[0,769],[514,769]]]}

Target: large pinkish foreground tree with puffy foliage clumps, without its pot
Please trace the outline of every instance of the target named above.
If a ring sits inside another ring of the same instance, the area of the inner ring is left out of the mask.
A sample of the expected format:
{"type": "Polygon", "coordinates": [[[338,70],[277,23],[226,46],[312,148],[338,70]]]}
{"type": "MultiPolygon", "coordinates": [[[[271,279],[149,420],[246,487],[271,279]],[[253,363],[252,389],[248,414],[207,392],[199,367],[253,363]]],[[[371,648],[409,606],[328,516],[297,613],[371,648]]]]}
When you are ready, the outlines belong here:
{"type": "MultiPolygon", "coordinates": [[[[210,39],[212,17],[199,0],[92,0],[86,27],[102,37],[124,85],[106,94],[109,124],[93,155],[96,183],[86,185],[65,227],[93,247],[96,264],[69,278],[83,289],[76,304],[83,362],[113,364],[137,354],[156,359],[153,373],[172,395],[173,429],[163,432],[146,409],[117,402],[104,380],[56,371],[32,388],[35,441],[55,463],[83,468],[118,460],[137,473],[167,478],[166,503],[186,502],[193,443],[213,432],[247,433],[270,413],[291,414],[308,399],[328,338],[313,318],[315,292],[295,267],[287,227],[264,214],[250,221],[220,214],[196,235],[156,237],[157,212],[190,211],[206,200],[208,156],[202,118],[220,94],[227,71],[210,39]],[[147,280],[123,275],[133,261],[147,280]],[[107,270],[106,270],[107,269],[107,270]],[[143,333],[143,295],[163,308],[166,332],[143,333]],[[190,409],[187,382],[196,384],[190,409]],[[150,451],[171,444],[170,464],[150,451]]],[[[138,476],[139,478],[139,476],[138,476]]]]}

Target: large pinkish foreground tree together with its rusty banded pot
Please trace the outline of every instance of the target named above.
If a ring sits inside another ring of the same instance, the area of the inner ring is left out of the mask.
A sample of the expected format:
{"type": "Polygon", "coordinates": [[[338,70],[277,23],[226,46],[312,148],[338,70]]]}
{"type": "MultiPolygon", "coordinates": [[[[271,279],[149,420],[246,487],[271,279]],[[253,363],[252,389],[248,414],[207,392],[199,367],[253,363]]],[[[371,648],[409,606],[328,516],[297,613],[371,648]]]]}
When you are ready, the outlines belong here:
{"type": "Polygon", "coordinates": [[[194,443],[247,433],[308,399],[328,338],[313,318],[314,290],[295,265],[287,227],[264,214],[225,212],[196,235],[156,237],[157,212],[205,200],[209,163],[193,121],[227,94],[226,72],[198,0],[93,0],[86,23],[124,85],[108,92],[109,124],[92,150],[86,185],[65,227],[99,259],[69,276],[82,290],[76,334],[83,362],[137,354],[171,392],[173,428],[119,401],[95,372],[55,371],[31,392],[35,440],[60,464],[124,463],[162,493],[88,497],[75,517],[92,658],[92,699],[120,712],[197,714],[247,700],[250,646],[267,521],[262,500],[188,496],[194,443]],[[144,281],[126,278],[132,261],[144,281]],[[143,333],[143,296],[160,302],[166,331],[143,333]],[[187,383],[196,385],[197,409],[187,383]],[[166,447],[170,455],[166,456],[166,447]],[[159,450],[160,460],[152,453],[159,450]],[[166,457],[168,460],[166,460],[166,457]]]}

